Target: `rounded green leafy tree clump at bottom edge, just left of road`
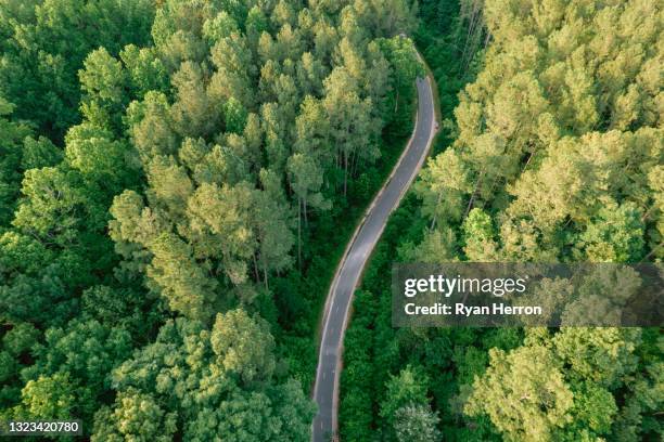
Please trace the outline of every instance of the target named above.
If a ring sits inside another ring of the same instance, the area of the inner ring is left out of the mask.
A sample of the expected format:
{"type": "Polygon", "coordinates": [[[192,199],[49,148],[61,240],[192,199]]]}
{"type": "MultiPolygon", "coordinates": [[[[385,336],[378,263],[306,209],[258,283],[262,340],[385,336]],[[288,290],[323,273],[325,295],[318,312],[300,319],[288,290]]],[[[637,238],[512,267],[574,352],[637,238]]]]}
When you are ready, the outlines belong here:
{"type": "Polygon", "coordinates": [[[217,315],[212,329],[167,322],[154,343],[114,372],[118,400],[98,412],[93,439],[166,438],[177,428],[187,440],[307,440],[312,405],[298,384],[271,382],[272,337],[265,327],[243,310],[217,315]],[[139,426],[130,413],[137,401],[163,426],[139,426]]]}

